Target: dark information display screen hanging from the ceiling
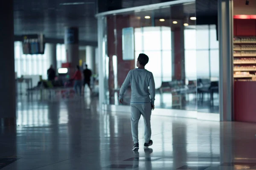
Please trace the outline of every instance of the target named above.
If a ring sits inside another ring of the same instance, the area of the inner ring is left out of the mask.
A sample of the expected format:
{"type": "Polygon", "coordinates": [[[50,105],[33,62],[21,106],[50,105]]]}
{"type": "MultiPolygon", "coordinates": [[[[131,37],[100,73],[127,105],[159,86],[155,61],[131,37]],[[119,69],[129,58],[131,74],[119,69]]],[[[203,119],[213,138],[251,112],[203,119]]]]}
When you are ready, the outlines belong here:
{"type": "Polygon", "coordinates": [[[44,54],[44,35],[23,35],[23,54],[44,54]]]}

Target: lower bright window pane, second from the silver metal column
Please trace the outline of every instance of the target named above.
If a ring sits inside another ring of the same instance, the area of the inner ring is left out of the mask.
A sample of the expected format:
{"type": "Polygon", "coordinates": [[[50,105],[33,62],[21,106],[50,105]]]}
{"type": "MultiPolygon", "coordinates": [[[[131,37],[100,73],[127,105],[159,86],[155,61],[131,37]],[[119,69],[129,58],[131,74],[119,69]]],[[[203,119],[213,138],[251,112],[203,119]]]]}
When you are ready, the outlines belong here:
{"type": "Polygon", "coordinates": [[[197,77],[209,78],[209,51],[201,50],[196,51],[197,57],[197,77]]]}

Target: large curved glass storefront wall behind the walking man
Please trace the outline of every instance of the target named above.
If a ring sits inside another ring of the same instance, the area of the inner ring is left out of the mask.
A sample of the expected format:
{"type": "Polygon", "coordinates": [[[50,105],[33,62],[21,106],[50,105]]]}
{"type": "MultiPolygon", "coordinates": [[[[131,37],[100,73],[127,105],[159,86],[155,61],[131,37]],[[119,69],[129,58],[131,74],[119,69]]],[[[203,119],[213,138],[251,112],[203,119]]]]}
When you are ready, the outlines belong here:
{"type": "MultiPolygon", "coordinates": [[[[105,17],[106,104],[118,105],[116,94],[122,82],[128,71],[136,68],[139,54],[145,53],[149,57],[145,68],[154,74],[157,89],[156,108],[218,113],[216,26],[196,26],[190,16],[195,16],[193,3],[105,17]],[[175,12],[177,9],[181,12],[175,12]],[[131,28],[133,35],[124,35],[124,30],[131,28]],[[123,59],[124,36],[130,37],[125,50],[133,49],[127,45],[133,46],[129,41],[134,39],[134,51],[128,51],[134,58],[123,59]]],[[[129,105],[130,96],[128,88],[124,105],[129,105]]]]}

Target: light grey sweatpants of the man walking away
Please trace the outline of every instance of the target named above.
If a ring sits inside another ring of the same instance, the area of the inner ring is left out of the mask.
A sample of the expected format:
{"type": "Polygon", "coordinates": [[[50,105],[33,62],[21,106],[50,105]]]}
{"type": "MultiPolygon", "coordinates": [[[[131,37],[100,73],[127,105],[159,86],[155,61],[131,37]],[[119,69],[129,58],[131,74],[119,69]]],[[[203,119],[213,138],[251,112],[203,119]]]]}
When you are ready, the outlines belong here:
{"type": "Polygon", "coordinates": [[[148,143],[151,138],[151,103],[131,103],[131,134],[134,144],[139,143],[138,139],[138,123],[140,120],[140,115],[144,118],[144,127],[145,127],[145,143],[148,143]]]}

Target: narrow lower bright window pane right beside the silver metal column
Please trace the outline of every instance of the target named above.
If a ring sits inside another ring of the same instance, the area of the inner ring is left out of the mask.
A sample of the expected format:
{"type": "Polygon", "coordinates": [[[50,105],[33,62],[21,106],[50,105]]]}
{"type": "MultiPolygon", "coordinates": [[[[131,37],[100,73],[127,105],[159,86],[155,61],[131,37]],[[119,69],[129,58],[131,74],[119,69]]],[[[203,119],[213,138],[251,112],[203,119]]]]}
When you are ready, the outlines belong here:
{"type": "Polygon", "coordinates": [[[210,51],[210,66],[211,66],[211,80],[218,81],[219,79],[219,51],[210,51]]]}

